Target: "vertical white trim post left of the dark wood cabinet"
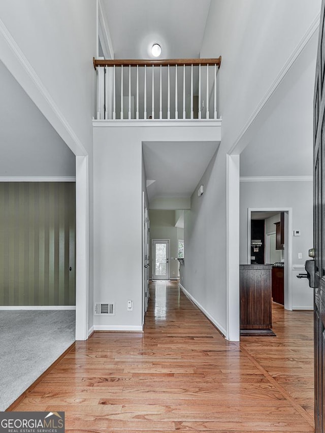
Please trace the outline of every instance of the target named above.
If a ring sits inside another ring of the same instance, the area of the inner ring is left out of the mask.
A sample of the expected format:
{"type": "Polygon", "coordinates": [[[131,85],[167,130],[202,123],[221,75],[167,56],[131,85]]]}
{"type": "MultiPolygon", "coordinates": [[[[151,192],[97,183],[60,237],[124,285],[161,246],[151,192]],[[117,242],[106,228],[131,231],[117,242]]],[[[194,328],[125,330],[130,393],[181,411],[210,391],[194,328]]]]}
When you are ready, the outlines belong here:
{"type": "Polygon", "coordinates": [[[226,339],[240,340],[239,155],[226,155],[226,339]]]}

